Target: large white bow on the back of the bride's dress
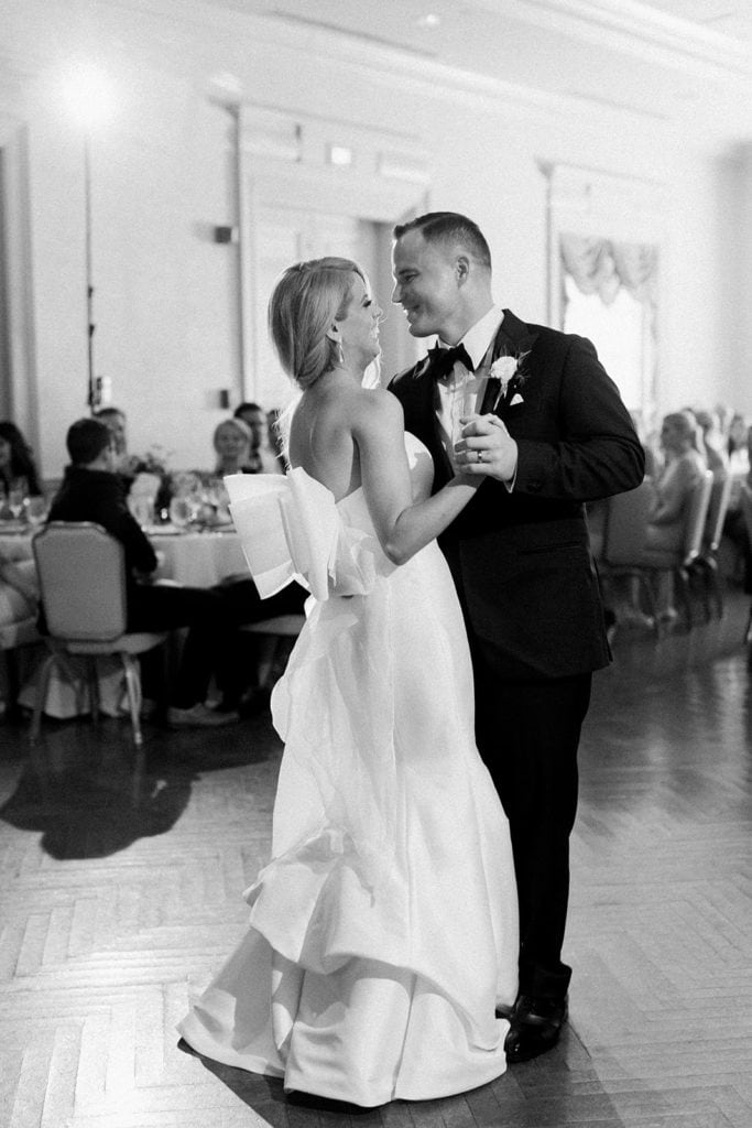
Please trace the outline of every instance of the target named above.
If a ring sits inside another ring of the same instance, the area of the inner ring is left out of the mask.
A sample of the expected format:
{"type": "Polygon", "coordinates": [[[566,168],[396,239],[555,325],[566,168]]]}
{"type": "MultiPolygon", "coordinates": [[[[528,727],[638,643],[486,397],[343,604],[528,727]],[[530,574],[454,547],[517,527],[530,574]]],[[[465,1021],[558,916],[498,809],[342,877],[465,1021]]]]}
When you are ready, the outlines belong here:
{"type": "Polygon", "coordinates": [[[365,535],[346,526],[334,494],[301,467],[224,478],[230,512],[262,599],[302,580],[319,602],[373,588],[365,535]]]}

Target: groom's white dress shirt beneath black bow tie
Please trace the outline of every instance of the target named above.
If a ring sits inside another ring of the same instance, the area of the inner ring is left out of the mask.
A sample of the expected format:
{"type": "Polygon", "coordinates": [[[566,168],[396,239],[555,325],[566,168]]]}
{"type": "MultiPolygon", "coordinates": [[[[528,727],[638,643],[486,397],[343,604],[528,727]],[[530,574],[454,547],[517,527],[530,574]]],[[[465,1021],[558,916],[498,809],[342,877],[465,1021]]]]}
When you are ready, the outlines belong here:
{"type": "MultiPolygon", "coordinates": [[[[452,371],[443,379],[436,380],[439,433],[454,473],[457,473],[454,443],[462,438],[460,420],[480,411],[488,382],[492,345],[503,320],[504,311],[498,306],[492,306],[488,312],[468,329],[462,340],[458,341],[458,344],[465,345],[475,365],[475,372],[468,372],[461,361],[455,361],[452,371]]],[[[441,338],[437,344],[440,349],[451,347],[441,338]]]]}

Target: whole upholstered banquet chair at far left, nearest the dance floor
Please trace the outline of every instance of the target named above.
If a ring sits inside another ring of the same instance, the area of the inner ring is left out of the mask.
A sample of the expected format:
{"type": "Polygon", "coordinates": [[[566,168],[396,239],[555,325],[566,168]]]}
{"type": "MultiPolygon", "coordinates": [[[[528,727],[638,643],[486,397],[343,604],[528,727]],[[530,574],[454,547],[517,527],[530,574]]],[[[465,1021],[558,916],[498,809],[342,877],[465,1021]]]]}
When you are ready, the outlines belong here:
{"type": "MultiPolygon", "coordinates": [[[[32,543],[48,634],[48,655],[39,668],[29,739],[39,735],[50,678],[55,667],[80,685],[70,656],[86,660],[91,715],[98,719],[97,656],[117,655],[127,689],[133,742],[141,734],[141,684],[135,655],[161,645],[166,633],[127,632],[125,553],[122,544],[90,521],[52,521],[32,543]]],[[[82,702],[80,703],[82,712],[82,702]]]]}

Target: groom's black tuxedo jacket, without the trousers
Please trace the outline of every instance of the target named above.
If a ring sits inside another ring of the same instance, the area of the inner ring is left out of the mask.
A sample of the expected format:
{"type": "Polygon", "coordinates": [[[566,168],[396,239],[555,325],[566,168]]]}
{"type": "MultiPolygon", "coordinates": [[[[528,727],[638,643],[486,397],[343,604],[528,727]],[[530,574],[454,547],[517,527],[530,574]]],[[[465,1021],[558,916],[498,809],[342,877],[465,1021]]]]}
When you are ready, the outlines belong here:
{"type": "MultiPolygon", "coordinates": [[[[616,385],[583,337],[524,325],[508,310],[493,358],[525,354],[494,411],[519,446],[514,488],[488,479],[440,538],[471,632],[498,673],[563,677],[609,661],[583,503],[643,481],[643,448],[616,385]],[[513,400],[517,397],[517,402],[513,400]]],[[[390,390],[405,428],[434,459],[434,492],[451,476],[436,423],[428,359],[390,390]]]]}

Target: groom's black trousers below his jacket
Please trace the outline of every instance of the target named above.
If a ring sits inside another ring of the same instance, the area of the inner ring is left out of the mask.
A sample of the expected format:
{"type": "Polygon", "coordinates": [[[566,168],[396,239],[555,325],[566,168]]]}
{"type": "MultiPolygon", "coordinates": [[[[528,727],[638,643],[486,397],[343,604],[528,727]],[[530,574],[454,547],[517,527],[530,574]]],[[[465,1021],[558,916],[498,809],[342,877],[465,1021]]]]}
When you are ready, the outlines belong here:
{"type": "Polygon", "coordinates": [[[510,820],[520,902],[520,993],[561,999],[577,746],[591,673],[511,680],[475,647],[476,739],[510,820]]]}

